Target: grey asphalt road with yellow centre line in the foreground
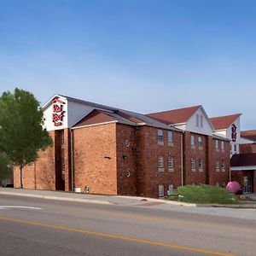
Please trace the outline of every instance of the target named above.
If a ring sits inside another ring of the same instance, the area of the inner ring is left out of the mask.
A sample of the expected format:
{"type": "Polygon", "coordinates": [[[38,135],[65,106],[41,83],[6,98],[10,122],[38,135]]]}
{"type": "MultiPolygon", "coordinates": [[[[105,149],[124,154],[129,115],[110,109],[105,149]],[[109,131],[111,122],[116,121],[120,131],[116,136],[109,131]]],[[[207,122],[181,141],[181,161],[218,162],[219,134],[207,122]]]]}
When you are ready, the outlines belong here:
{"type": "Polygon", "coordinates": [[[256,221],[0,195],[0,255],[253,256],[256,221]]]}

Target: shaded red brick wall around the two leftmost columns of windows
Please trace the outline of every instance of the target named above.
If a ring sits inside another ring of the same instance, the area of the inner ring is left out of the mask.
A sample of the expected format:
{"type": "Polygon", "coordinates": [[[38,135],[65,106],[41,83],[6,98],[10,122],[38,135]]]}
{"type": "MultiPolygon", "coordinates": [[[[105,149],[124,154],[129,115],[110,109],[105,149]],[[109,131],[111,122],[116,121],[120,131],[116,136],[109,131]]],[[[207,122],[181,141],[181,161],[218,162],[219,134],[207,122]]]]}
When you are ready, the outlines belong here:
{"type": "Polygon", "coordinates": [[[169,184],[181,184],[180,132],[174,132],[173,146],[168,146],[164,130],[164,145],[157,143],[157,128],[137,127],[137,195],[158,197],[159,184],[164,185],[165,195],[169,184]],[[174,172],[168,172],[168,155],[174,158],[174,172]],[[158,171],[158,158],[164,157],[165,171],[158,171]]]}

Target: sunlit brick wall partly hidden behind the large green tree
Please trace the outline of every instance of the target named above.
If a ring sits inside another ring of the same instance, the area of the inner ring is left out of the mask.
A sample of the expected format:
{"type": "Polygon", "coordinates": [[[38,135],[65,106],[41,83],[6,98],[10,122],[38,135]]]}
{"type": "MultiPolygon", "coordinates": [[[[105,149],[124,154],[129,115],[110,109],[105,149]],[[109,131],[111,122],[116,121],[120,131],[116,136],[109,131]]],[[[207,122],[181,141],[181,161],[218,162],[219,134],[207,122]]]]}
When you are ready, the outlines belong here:
{"type": "MultiPolygon", "coordinates": [[[[55,132],[49,132],[55,142],[55,132]]],[[[38,153],[38,160],[23,168],[24,189],[49,189],[55,190],[55,147],[47,148],[38,153]]],[[[20,170],[15,166],[15,188],[20,188],[20,170]]]]}

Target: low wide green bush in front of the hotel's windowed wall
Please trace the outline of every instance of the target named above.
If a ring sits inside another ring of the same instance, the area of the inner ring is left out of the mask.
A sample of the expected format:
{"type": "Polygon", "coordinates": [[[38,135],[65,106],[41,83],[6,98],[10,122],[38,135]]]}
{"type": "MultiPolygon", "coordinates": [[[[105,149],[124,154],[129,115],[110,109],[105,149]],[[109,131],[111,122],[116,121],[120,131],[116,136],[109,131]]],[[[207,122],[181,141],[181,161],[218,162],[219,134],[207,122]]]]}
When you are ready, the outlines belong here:
{"type": "Polygon", "coordinates": [[[186,185],[175,190],[177,201],[200,204],[236,204],[236,195],[212,185],[186,185]]]}

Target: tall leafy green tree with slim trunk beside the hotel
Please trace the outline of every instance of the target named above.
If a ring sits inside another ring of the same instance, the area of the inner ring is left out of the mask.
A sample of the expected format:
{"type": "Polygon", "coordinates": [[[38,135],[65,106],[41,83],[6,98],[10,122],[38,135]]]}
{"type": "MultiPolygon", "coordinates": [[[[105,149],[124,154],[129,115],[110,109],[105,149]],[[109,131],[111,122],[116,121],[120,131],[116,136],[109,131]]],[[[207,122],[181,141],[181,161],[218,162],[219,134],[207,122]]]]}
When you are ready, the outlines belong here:
{"type": "Polygon", "coordinates": [[[20,188],[23,167],[38,159],[38,150],[52,144],[43,129],[44,115],[40,103],[26,90],[3,92],[0,97],[0,150],[20,167],[20,188]]]}

